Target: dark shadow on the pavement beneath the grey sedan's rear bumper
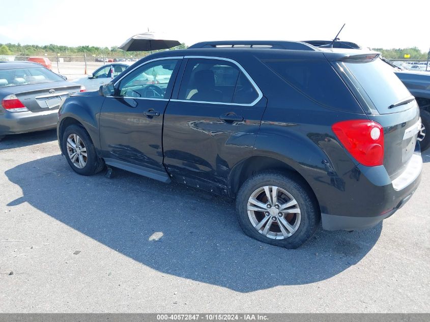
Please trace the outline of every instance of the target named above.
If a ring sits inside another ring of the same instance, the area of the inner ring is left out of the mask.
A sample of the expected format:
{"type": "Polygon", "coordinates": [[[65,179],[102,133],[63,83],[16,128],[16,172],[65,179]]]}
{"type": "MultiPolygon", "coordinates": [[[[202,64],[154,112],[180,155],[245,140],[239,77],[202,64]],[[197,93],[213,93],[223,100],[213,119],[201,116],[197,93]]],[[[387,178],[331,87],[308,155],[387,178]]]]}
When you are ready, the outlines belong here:
{"type": "Polygon", "coordinates": [[[0,151],[27,147],[28,145],[55,141],[56,139],[56,129],[6,135],[2,140],[0,140],[0,151]]]}

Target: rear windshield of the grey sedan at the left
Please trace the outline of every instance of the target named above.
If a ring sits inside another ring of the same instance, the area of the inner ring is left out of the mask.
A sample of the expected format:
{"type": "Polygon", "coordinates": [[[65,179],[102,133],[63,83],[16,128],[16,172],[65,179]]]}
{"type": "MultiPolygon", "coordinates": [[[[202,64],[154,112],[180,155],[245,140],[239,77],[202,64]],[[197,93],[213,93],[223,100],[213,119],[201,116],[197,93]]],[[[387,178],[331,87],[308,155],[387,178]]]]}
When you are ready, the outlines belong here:
{"type": "Polygon", "coordinates": [[[64,80],[62,77],[43,67],[0,70],[0,87],[62,80],[64,80]]]}

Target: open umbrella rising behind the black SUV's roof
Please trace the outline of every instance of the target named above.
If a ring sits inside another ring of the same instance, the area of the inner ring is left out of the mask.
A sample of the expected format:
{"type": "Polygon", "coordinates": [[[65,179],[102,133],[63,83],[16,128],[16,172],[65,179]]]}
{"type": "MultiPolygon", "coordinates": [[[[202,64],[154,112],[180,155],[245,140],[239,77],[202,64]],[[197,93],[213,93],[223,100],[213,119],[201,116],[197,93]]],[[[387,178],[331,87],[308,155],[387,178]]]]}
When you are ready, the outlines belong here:
{"type": "Polygon", "coordinates": [[[144,33],[137,34],[127,39],[118,48],[125,51],[152,51],[159,49],[168,49],[180,45],[177,40],[163,39],[162,34],[157,33],[144,33]]]}

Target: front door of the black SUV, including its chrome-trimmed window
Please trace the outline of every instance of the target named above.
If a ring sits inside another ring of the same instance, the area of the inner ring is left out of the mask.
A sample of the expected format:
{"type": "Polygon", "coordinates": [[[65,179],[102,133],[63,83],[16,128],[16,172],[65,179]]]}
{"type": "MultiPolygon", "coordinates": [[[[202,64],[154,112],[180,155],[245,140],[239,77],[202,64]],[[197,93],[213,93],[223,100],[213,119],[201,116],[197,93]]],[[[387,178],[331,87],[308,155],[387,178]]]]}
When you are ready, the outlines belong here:
{"type": "Polygon", "coordinates": [[[100,145],[108,165],[168,181],[162,154],[163,113],[180,62],[181,57],[157,58],[116,81],[100,111],[100,145]]]}

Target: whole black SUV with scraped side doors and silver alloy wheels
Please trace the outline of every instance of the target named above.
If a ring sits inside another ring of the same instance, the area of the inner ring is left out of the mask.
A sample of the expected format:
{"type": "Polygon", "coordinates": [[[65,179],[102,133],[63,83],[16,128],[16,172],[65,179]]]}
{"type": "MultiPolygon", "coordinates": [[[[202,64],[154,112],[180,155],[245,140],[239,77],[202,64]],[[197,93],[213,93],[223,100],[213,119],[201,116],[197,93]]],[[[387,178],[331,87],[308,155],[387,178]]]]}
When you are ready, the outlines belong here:
{"type": "Polygon", "coordinates": [[[289,41],[158,52],[68,98],[60,148],[79,174],[108,165],[236,199],[265,243],[298,247],[320,220],[371,227],[422,168],[417,103],[378,56],[289,41]]]}

